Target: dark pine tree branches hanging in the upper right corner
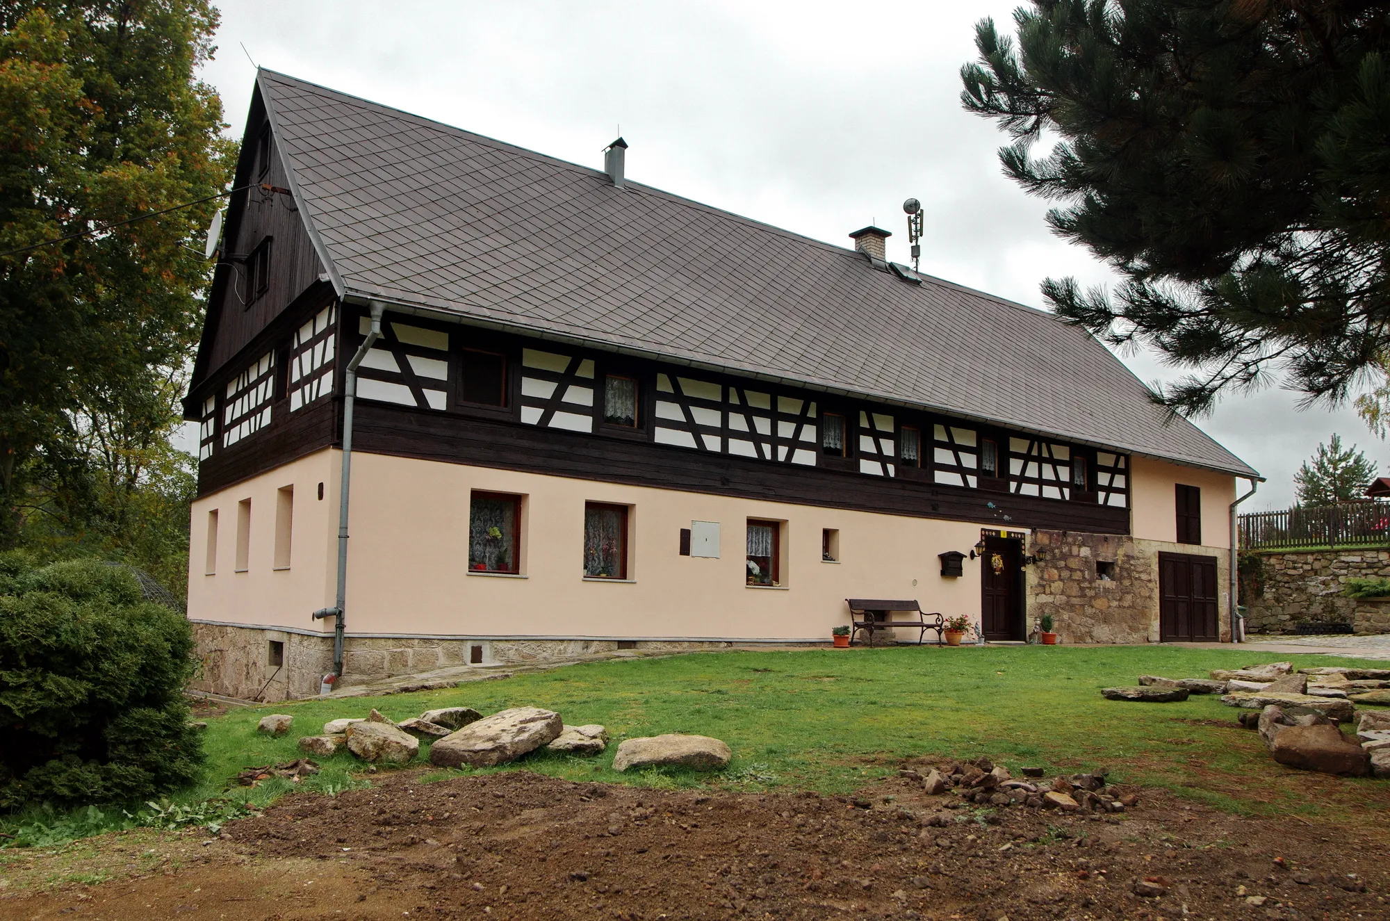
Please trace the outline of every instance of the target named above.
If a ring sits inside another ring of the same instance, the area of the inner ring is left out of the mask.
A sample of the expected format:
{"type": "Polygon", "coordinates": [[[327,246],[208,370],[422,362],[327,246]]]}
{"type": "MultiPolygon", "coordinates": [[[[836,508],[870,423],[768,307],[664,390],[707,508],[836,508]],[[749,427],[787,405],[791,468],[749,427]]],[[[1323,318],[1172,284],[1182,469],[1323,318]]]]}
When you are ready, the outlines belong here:
{"type": "Polygon", "coordinates": [[[1054,231],[1122,275],[1109,295],[1047,280],[1061,316],[1188,369],[1156,395],[1184,413],[1275,376],[1330,402],[1384,380],[1390,4],[1033,0],[1015,22],[976,26],[962,102],[1059,202],[1054,231]]]}

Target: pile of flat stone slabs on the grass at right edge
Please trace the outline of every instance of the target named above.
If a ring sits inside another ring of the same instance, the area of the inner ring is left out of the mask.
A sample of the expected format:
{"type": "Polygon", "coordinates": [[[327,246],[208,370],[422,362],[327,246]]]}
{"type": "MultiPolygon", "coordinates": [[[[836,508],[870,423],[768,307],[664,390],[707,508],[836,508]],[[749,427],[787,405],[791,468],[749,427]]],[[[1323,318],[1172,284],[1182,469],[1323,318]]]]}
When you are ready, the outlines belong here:
{"type": "Polygon", "coordinates": [[[1140,675],[1133,687],[1106,687],[1111,700],[1170,703],[1188,694],[1220,694],[1252,712],[1240,722],[1258,729],[1279,764],[1343,776],[1390,776],[1390,668],[1305,668],[1268,662],[1211,672],[1211,678],[1140,675]],[[1357,737],[1339,723],[1357,723],[1357,737]]]}

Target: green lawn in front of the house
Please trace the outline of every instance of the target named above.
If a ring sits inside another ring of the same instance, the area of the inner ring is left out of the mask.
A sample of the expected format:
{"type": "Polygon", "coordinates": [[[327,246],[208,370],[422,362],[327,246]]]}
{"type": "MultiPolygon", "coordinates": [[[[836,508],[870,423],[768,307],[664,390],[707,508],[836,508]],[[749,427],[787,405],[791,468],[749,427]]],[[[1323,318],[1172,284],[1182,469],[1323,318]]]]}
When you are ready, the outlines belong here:
{"type": "MultiPolygon", "coordinates": [[[[613,744],[598,758],[537,753],[498,769],[660,786],[791,785],[847,792],[892,772],[901,758],[988,754],[1011,769],[1104,767],[1118,780],[1169,787],[1241,812],[1341,821],[1383,815],[1390,808],[1390,782],[1282,768],[1255,733],[1238,729],[1237,711],[1215,697],[1134,704],[1098,693],[1111,684],[1133,684],[1141,673],[1205,676],[1213,668],[1279,658],[1180,647],[720,652],[574,665],[441,691],[267,704],[210,721],[207,780],[179,799],[225,796],[228,779],[242,768],[295,758],[300,735],[314,735],[338,716],[364,716],[371,707],[404,719],[434,707],[468,705],[491,714],[532,704],[559,711],[567,723],[603,723],[613,744]],[[268,712],[295,716],[289,736],[256,733],[256,722],[268,712]],[[632,776],[612,769],[617,742],[664,732],[717,736],[734,750],[734,761],[719,776],[632,776]]],[[[1291,658],[1300,668],[1362,664],[1322,655],[1291,658]]],[[[307,786],[360,783],[360,768],[352,755],[335,755],[307,786]]],[[[265,801],[289,786],[274,782],[239,796],[265,801]]]]}

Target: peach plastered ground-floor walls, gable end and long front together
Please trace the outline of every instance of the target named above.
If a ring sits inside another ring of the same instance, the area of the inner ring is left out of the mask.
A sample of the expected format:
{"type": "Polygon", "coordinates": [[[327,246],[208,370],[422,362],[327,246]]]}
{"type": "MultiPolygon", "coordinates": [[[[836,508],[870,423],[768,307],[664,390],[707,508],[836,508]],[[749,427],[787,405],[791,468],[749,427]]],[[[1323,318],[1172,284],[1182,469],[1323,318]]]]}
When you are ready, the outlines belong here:
{"type": "MultiPolygon", "coordinates": [[[[329,629],[309,614],[332,604],[338,451],[229,487],[193,508],[189,616],[236,623],[329,629]],[[295,522],[295,566],[271,572],[275,488],[300,484],[313,497],[295,522]],[[229,572],[236,502],[253,497],[252,566],[224,577],[202,575],[202,534],[211,505],[222,512],[220,559],[229,572]],[[311,548],[302,551],[309,544],[311,548]],[[320,572],[313,572],[318,568],[320,572]]],[[[353,454],[348,632],[379,634],[538,636],[616,639],[819,640],[848,623],[845,598],[917,598],[929,611],[980,612],[980,563],[941,576],[937,554],[967,552],[981,523],[941,522],[784,502],[755,501],[493,470],[410,458],[353,454]],[[523,504],[523,576],[468,575],[468,497],[514,492],[523,504]],[[631,582],[584,580],[585,501],[632,506],[631,582]],[[745,522],[787,522],[785,588],[745,586],[745,522]],[[681,556],[680,529],[721,524],[721,556],[681,556]],[[841,562],[820,561],[821,529],[840,529],[841,562]]],[[[913,634],[915,637],[915,634],[913,634]]],[[[899,639],[908,639],[906,633],[899,639]]],[[[933,634],[934,639],[934,634],[933,634]]]]}

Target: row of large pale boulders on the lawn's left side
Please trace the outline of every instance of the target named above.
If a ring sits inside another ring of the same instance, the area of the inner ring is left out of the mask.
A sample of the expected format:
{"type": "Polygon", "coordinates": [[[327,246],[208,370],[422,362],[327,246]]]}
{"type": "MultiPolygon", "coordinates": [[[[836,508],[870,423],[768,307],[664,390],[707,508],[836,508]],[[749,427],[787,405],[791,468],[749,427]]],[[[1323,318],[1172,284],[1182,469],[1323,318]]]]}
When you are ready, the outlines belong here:
{"type": "MultiPolygon", "coordinates": [[[[295,718],[271,714],[257,729],[271,736],[289,732],[295,718]]],[[[539,707],[513,707],[484,716],[471,707],[427,710],[418,716],[393,722],[373,710],[356,719],[332,719],[321,735],[303,736],[300,751],[320,758],[346,748],[371,764],[406,765],[420,755],[420,743],[430,743],[430,764],[442,768],[489,768],[546,748],[577,757],[592,757],[607,748],[607,730],[598,725],[569,726],[560,714],[539,707]]],[[[727,744],[709,736],[663,735],[624,739],[613,758],[614,771],[649,767],[687,767],[716,771],[728,767],[727,744]]]]}

